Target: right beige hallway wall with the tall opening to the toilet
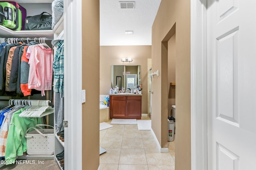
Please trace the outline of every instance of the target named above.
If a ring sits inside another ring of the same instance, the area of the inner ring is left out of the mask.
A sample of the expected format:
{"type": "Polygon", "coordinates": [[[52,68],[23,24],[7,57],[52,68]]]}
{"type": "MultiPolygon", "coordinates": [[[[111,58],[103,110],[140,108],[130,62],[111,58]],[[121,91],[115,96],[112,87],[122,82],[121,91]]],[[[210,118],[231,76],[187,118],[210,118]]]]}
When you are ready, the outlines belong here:
{"type": "Polygon", "coordinates": [[[162,0],[152,26],[152,129],[167,147],[168,42],[176,32],[175,170],[191,169],[190,136],[190,0],[162,0]],[[175,29],[174,29],[175,28],[175,29]],[[173,29],[173,30],[172,30],[173,29]],[[164,43],[162,43],[164,41],[164,43]]]}

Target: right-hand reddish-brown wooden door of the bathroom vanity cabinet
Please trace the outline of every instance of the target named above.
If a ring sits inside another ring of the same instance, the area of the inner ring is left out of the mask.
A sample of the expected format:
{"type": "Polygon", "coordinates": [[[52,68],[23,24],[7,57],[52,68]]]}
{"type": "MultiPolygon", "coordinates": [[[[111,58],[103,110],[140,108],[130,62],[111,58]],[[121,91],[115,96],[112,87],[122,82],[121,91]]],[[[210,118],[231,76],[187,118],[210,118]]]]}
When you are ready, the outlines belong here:
{"type": "Polygon", "coordinates": [[[127,118],[141,117],[141,100],[127,100],[127,118]]]}

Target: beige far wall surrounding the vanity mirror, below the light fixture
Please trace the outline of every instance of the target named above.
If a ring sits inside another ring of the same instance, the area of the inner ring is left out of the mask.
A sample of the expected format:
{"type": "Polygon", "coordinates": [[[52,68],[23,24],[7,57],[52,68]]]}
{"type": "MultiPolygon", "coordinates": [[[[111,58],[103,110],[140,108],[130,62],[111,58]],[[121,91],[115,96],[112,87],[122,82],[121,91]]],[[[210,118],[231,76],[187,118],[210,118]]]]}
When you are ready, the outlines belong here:
{"type": "Polygon", "coordinates": [[[109,94],[111,88],[111,65],[141,65],[142,113],[148,113],[147,59],[151,58],[151,45],[100,46],[100,94],[109,94]],[[132,58],[131,63],[121,58],[132,58]]]}

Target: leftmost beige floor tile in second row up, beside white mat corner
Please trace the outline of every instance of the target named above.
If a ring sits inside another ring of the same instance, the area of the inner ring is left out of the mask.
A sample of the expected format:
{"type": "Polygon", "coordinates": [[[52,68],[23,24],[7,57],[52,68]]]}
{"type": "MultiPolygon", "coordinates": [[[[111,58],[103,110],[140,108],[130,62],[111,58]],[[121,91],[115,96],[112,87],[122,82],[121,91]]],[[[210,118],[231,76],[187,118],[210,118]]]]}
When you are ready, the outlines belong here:
{"type": "Polygon", "coordinates": [[[118,164],[121,149],[104,148],[107,150],[100,155],[100,164],[118,164]]]}

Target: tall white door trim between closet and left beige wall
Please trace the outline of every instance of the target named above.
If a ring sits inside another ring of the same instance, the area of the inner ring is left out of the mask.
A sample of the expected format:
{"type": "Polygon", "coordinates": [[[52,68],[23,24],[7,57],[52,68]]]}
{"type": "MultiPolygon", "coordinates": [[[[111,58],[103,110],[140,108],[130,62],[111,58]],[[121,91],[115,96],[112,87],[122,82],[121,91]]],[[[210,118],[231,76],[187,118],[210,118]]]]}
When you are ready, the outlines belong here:
{"type": "Polygon", "coordinates": [[[82,0],[64,1],[65,169],[82,169],[82,0]],[[68,50],[67,50],[68,49],[68,50]],[[72,89],[72,90],[71,90],[72,89]]]}

